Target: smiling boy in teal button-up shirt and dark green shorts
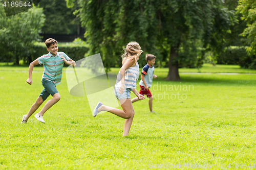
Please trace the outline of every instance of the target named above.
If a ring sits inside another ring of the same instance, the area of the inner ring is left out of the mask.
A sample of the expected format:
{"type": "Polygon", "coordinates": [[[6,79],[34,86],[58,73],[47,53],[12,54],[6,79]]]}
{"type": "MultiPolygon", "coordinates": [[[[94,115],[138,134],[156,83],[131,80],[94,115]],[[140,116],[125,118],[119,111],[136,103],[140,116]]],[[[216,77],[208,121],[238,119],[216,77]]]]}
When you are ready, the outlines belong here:
{"type": "Polygon", "coordinates": [[[39,106],[44,103],[44,101],[51,94],[52,99],[49,100],[45,106],[35,114],[35,118],[41,123],[45,124],[45,120],[42,118],[44,113],[50,109],[54,104],[60,100],[60,95],[56,89],[61,81],[62,77],[62,68],[63,63],[75,66],[75,61],[69,58],[65,53],[58,52],[58,42],[53,38],[48,38],[45,42],[47,46],[47,51],[49,52],[46,55],[42,55],[38,59],[34,60],[29,65],[29,78],[27,80],[28,84],[32,84],[32,71],[35,65],[44,64],[44,73],[42,74],[42,86],[44,89],[38,96],[36,102],[31,106],[28,114],[25,114],[22,117],[22,123],[27,123],[28,118],[39,108],[39,106]]]}

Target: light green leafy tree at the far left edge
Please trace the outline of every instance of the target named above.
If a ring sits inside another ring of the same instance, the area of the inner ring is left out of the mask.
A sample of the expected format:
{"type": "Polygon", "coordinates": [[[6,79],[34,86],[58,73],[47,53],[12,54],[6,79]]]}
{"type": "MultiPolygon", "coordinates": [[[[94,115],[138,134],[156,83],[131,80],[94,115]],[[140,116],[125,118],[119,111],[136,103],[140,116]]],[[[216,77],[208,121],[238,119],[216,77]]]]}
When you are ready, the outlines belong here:
{"type": "MultiPolygon", "coordinates": [[[[0,3],[2,6],[2,3],[0,3]]],[[[6,17],[0,8],[0,49],[4,57],[11,58],[16,65],[26,58],[33,41],[38,40],[45,15],[41,8],[33,7],[25,12],[6,17]]]]}

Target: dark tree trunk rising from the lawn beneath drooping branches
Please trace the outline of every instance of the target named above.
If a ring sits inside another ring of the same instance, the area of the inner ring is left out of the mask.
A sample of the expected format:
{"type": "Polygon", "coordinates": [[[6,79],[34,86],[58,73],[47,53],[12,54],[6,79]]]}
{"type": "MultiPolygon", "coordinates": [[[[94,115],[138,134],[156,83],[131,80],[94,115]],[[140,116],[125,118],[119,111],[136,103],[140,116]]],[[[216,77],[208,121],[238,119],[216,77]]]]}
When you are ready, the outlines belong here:
{"type": "Polygon", "coordinates": [[[170,47],[170,56],[169,56],[169,72],[166,80],[169,81],[180,81],[180,75],[179,75],[179,63],[176,60],[177,59],[177,51],[178,46],[172,46],[170,47]]]}

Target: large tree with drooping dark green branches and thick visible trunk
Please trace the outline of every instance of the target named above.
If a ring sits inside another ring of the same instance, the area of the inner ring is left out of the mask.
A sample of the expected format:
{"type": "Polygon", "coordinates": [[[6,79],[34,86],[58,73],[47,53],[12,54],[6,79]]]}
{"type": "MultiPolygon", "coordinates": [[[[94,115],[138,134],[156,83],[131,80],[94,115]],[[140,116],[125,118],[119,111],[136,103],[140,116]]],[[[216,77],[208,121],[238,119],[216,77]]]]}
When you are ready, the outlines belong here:
{"type": "MultiPolygon", "coordinates": [[[[67,4],[74,2],[68,0],[67,4]]],[[[181,59],[184,62],[187,61],[184,58],[198,58],[198,42],[205,48],[214,47],[214,40],[221,38],[218,34],[229,30],[232,23],[232,15],[221,0],[80,0],[75,3],[82,26],[87,30],[90,52],[103,54],[105,66],[110,67],[116,61],[120,46],[129,41],[138,41],[145,53],[156,56],[161,55],[161,49],[166,52],[162,44],[167,44],[166,80],[170,81],[180,80],[181,59]],[[179,58],[181,50],[186,52],[183,58],[179,58]]]]}

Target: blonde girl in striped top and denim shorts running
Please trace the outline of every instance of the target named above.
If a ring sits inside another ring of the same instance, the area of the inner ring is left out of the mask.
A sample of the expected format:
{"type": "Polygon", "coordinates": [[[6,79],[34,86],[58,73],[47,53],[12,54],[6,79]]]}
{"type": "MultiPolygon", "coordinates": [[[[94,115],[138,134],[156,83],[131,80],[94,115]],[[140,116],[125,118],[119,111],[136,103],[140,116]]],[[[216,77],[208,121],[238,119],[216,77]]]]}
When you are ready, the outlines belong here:
{"type": "Polygon", "coordinates": [[[143,52],[138,42],[129,42],[124,48],[122,55],[122,67],[117,75],[117,81],[114,88],[114,94],[119,100],[123,110],[103,105],[101,102],[94,109],[94,117],[100,111],[108,111],[125,119],[123,136],[127,136],[132,126],[134,109],[131,102],[131,91],[135,93],[139,100],[145,97],[136,90],[136,82],[139,78],[139,56],[143,52]]]}

